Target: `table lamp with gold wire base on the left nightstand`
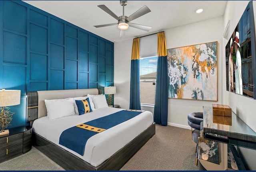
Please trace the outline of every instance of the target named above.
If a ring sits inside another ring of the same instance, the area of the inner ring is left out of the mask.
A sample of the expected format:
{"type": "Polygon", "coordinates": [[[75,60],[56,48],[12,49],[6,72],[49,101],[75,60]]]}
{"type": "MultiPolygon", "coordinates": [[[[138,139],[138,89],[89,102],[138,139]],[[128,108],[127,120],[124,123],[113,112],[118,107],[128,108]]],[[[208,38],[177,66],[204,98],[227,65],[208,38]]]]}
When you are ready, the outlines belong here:
{"type": "Polygon", "coordinates": [[[12,121],[13,112],[6,106],[20,104],[20,90],[0,90],[0,135],[9,134],[9,130],[4,130],[12,121]]]}

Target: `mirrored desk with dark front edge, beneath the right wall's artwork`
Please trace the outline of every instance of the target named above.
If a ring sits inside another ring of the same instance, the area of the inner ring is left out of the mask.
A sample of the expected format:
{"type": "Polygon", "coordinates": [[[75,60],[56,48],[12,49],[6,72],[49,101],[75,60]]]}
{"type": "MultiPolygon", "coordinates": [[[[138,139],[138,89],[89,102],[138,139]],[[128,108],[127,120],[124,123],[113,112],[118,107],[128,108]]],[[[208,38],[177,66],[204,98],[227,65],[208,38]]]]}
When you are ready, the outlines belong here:
{"type": "Polygon", "coordinates": [[[236,114],[232,112],[232,125],[223,125],[212,122],[212,107],[203,107],[203,123],[202,130],[205,133],[214,133],[217,135],[224,135],[228,137],[228,141],[223,142],[218,139],[208,139],[219,142],[220,148],[220,164],[213,164],[202,159],[199,159],[199,166],[202,170],[226,170],[228,169],[228,155],[227,149],[229,145],[238,147],[245,147],[256,150],[256,133],[244,123],[236,114]]]}

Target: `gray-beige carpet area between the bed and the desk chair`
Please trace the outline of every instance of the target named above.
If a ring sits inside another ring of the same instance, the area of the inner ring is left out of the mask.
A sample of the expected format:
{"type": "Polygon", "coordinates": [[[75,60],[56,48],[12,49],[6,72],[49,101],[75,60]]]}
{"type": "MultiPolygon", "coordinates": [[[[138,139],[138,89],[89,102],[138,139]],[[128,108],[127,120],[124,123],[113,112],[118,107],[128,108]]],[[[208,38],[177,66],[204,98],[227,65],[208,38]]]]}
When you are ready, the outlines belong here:
{"type": "Polygon", "coordinates": [[[120,170],[199,170],[191,130],[156,125],[154,135],[120,170]]]}

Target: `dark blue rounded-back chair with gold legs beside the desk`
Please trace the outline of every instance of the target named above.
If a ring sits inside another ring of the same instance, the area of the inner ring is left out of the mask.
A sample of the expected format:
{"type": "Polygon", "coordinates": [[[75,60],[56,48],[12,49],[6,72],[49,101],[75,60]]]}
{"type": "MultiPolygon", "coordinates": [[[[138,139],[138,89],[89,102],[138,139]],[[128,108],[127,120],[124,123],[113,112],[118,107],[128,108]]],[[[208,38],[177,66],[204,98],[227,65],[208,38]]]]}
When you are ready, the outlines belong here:
{"type": "Polygon", "coordinates": [[[196,165],[198,162],[198,138],[200,137],[200,123],[203,121],[202,112],[192,112],[188,114],[188,125],[191,127],[192,131],[192,140],[196,143],[196,165]]]}

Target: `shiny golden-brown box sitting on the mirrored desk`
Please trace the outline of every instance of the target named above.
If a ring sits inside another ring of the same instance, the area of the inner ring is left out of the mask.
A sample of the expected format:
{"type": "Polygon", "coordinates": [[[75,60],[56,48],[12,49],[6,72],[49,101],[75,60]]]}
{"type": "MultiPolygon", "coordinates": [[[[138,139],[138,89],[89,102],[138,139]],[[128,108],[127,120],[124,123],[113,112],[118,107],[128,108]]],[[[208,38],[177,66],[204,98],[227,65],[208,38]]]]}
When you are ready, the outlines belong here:
{"type": "Polygon", "coordinates": [[[213,123],[232,125],[232,109],[228,105],[212,104],[213,123]]]}

